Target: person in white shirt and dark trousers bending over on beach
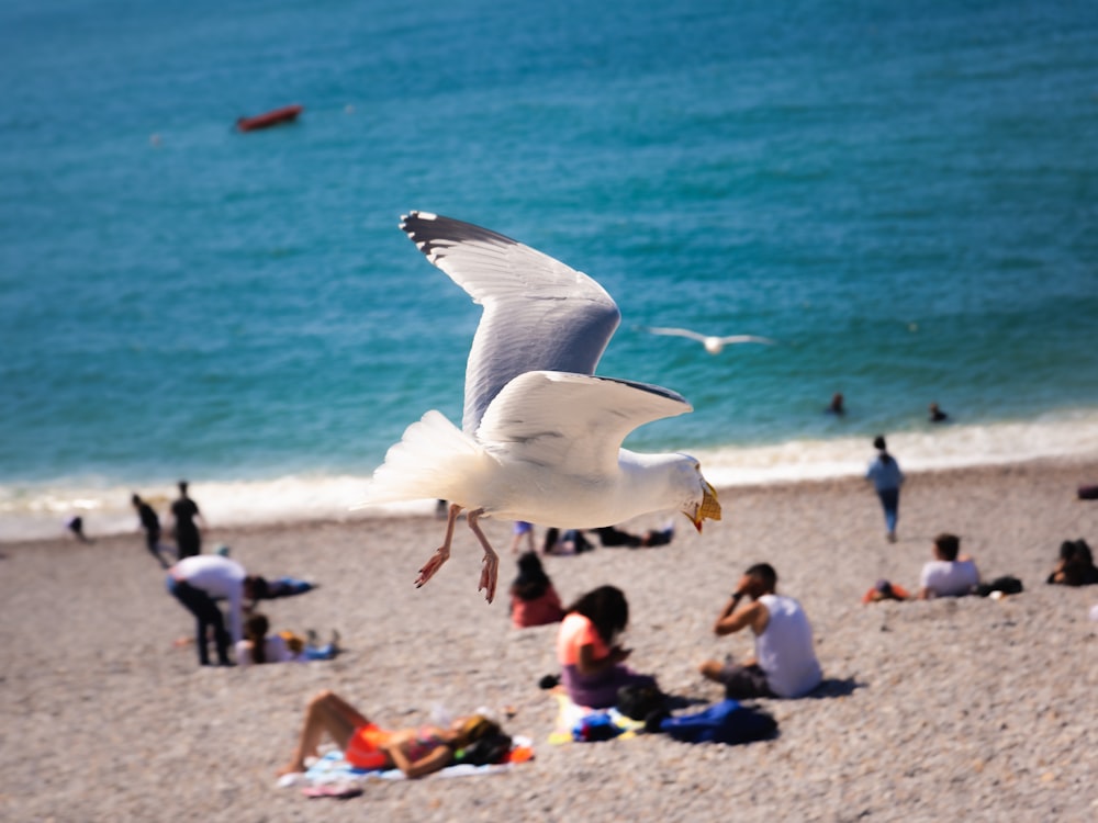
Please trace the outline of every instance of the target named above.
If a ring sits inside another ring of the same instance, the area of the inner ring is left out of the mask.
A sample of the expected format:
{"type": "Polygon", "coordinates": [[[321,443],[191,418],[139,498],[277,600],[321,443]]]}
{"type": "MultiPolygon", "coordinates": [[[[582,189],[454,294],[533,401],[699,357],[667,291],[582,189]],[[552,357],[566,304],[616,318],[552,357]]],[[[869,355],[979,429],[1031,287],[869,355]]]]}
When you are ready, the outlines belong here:
{"type": "Polygon", "coordinates": [[[229,644],[243,635],[242,612],[244,599],[254,605],[267,596],[267,580],[249,576],[235,560],[216,554],[195,554],[184,557],[168,570],[168,593],[190,611],[197,621],[194,643],[199,650],[199,664],[210,665],[208,628],[213,627],[217,646],[217,663],[229,666],[229,644]],[[228,601],[229,631],[215,600],[228,601]]]}

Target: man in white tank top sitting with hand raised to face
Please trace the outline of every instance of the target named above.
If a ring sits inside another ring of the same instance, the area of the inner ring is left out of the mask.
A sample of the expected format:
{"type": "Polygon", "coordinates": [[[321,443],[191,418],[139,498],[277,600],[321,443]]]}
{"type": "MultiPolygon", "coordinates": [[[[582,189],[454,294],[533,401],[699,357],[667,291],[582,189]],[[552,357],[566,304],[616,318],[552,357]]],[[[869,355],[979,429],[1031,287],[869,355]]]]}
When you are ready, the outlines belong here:
{"type": "Polygon", "coordinates": [[[824,677],[804,609],[792,597],[775,594],[776,587],[773,566],[751,566],[713,625],[718,636],[750,628],[755,638],[753,658],[742,664],[730,658],[724,663],[706,661],[699,667],[703,676],[725,687],[729,698],[803,697],[824,677]],[[751,602],[741,608],[744,597],[750,597],[751,602]]]}

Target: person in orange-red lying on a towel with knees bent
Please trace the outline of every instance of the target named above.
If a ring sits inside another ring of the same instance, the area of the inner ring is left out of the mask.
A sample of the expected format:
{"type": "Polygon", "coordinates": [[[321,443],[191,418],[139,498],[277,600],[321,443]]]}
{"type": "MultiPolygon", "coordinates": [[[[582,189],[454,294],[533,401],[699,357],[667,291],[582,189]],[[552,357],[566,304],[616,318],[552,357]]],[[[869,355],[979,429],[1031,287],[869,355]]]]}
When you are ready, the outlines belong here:
{"type": "Polygon", "coordinates": [[[317,756],[325,733],[352,766],[366,769],[399,768],[407,777],[423,777],[455,762],[458,751],[502,734],[498,724],[483,714],[458,718],[448,729],[423,725],[386,731],[332,691],[309,701],[305,722],[290,763],[278,774],[305,770],[305,759],[317,756]]]}

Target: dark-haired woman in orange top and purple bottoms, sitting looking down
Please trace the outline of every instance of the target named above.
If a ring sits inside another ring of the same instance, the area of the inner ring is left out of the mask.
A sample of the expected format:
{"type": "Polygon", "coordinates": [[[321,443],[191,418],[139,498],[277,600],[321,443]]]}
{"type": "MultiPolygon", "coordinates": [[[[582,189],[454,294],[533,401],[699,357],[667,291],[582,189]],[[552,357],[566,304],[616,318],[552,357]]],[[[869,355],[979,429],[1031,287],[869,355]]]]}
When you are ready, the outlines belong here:
{"type": "Polygon", "coordinates": [[[656,678],[624,665],[632,653],[617,644],[629,623],[621,589],[600,586],[572,604],[557,634],[557,661],[568,696],[578,706],[606,709],[623,686],[659,688],[656,678]]]}

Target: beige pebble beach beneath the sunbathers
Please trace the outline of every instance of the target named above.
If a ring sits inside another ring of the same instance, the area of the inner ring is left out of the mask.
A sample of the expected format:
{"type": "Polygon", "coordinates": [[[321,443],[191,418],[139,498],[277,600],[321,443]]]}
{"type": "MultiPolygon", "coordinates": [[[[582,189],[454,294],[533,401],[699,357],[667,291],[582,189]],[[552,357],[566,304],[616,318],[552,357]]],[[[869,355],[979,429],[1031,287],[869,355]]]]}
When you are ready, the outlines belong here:
{"type": "Polygon", "coordinates": [[[197,665],[182,642],[192,618],[136,531],[0,544],[0,820],[1096,820],[1098,587],[1044,583],[1063,540],[1098,544],[1098,503],[1075,494],[1096,481],[1095,458],[911,473],[895,544],[859,478],[733,487],[701,535],[679,518],[670,546],[545,559],[565,601],[620,587],[630,664],[697,707],[721,698],[697,664],[751,651],[749,636],[715,638],[713,620],[743,568],[774,565],[813,622],[825,683],[759,701],[778,735],[741,746],[550,745],[556,702],[538,680],[557,672],[556,627],[511,628],[509,522],[485,522],[502,555],[492,605],[463,525],[450,562],[416,589],[441,537],[430,517],[210,523],[206,551],[223,543],[250,573],[318,584],[262,604],[272,628],[336,629],[345,649],[250,668],[197,665]],[[861,602],[882,577],[917,588],[941,531],[961,535],[984,579],[1013,575],[1024,591],[861,602]],[[306,799],[274,773],[322,689],[388,726],[488,707],[536,756],[502,775],[306,799]]]}

